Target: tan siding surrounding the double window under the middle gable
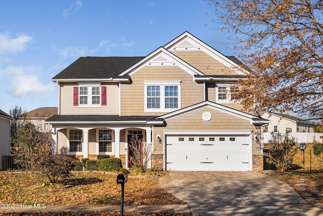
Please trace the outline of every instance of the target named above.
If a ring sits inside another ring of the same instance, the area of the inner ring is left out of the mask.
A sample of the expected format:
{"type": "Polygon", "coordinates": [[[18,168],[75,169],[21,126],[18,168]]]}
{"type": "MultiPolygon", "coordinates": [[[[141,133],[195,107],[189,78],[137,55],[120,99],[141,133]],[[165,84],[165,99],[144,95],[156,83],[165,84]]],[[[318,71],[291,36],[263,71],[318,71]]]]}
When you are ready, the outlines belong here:
{"type": "Polygon", "coordinates": [[[161,115],[144,113],[144,81],[181,81],[181,107],[204,100],[203,84],[177,66],[146,66],[131,76],[131,84],[121,85],[121,115],[161,115]]]}

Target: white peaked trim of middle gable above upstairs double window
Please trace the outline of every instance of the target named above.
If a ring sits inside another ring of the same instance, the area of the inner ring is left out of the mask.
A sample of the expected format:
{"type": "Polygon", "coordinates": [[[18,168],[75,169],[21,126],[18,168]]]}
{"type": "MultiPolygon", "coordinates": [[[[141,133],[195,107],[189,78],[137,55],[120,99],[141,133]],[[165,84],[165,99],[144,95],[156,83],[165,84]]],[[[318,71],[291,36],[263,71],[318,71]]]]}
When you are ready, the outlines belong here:
{"type": "Polygon", "coordinates": [[[182,68],[187,73],[194,75],[204,75],[202,72],[197,70],[196,68],[192,67],[191,65],[187,64],[182,59],[178,58],[171,52],[165,50],[164,48],[160,47],[124,72],[120,73],[119,76],[123,75],[133,75],[138,70],[145,66],[178,66],[182,68]]]}

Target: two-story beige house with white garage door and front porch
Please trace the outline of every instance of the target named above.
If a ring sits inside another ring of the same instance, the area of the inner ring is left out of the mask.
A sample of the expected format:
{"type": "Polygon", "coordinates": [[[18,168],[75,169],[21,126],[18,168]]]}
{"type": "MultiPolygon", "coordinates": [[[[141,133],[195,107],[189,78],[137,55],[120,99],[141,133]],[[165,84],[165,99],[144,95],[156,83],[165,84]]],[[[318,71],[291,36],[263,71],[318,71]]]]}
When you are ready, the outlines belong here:
{"type": "Polygon", "coordinates": [[[145,57],[81,57],[52,78],[58,115],[46,122],[56,148],[78,158],[109,154],[131,168],[137,135],[152,143],[151,167],[260,170],[268,120],[230,100],[246,75],[238,64],[188,32],[145,57]]]}

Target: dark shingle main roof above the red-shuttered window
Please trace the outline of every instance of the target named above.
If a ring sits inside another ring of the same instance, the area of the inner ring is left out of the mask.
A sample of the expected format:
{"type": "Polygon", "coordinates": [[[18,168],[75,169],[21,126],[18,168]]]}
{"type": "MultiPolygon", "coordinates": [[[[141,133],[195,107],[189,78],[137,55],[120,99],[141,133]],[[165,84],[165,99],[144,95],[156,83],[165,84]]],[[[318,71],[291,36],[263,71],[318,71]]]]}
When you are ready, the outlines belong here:
{"type": "Polygon", "coordinates": [[[52,79],[115,78],[144,57],[80,57],[52,79]]]}

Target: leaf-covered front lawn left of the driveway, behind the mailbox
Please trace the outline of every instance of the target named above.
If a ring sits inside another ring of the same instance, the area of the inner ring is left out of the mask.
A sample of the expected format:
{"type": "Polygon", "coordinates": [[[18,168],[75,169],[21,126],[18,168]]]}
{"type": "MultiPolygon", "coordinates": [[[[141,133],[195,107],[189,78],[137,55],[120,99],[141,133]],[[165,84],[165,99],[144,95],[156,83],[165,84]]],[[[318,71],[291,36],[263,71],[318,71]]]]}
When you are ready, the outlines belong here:
{"type": "MultiPolygon", "coordinates": [[[[76,172],[68,181],[45,184],[37,174],[0,172],[0,203],[49,205],[120,204],[121,185],[116,174],[76,172]]],[[[157,178],[128,176],[124,204],[183,204],[161,189],[157,178]]]]}

